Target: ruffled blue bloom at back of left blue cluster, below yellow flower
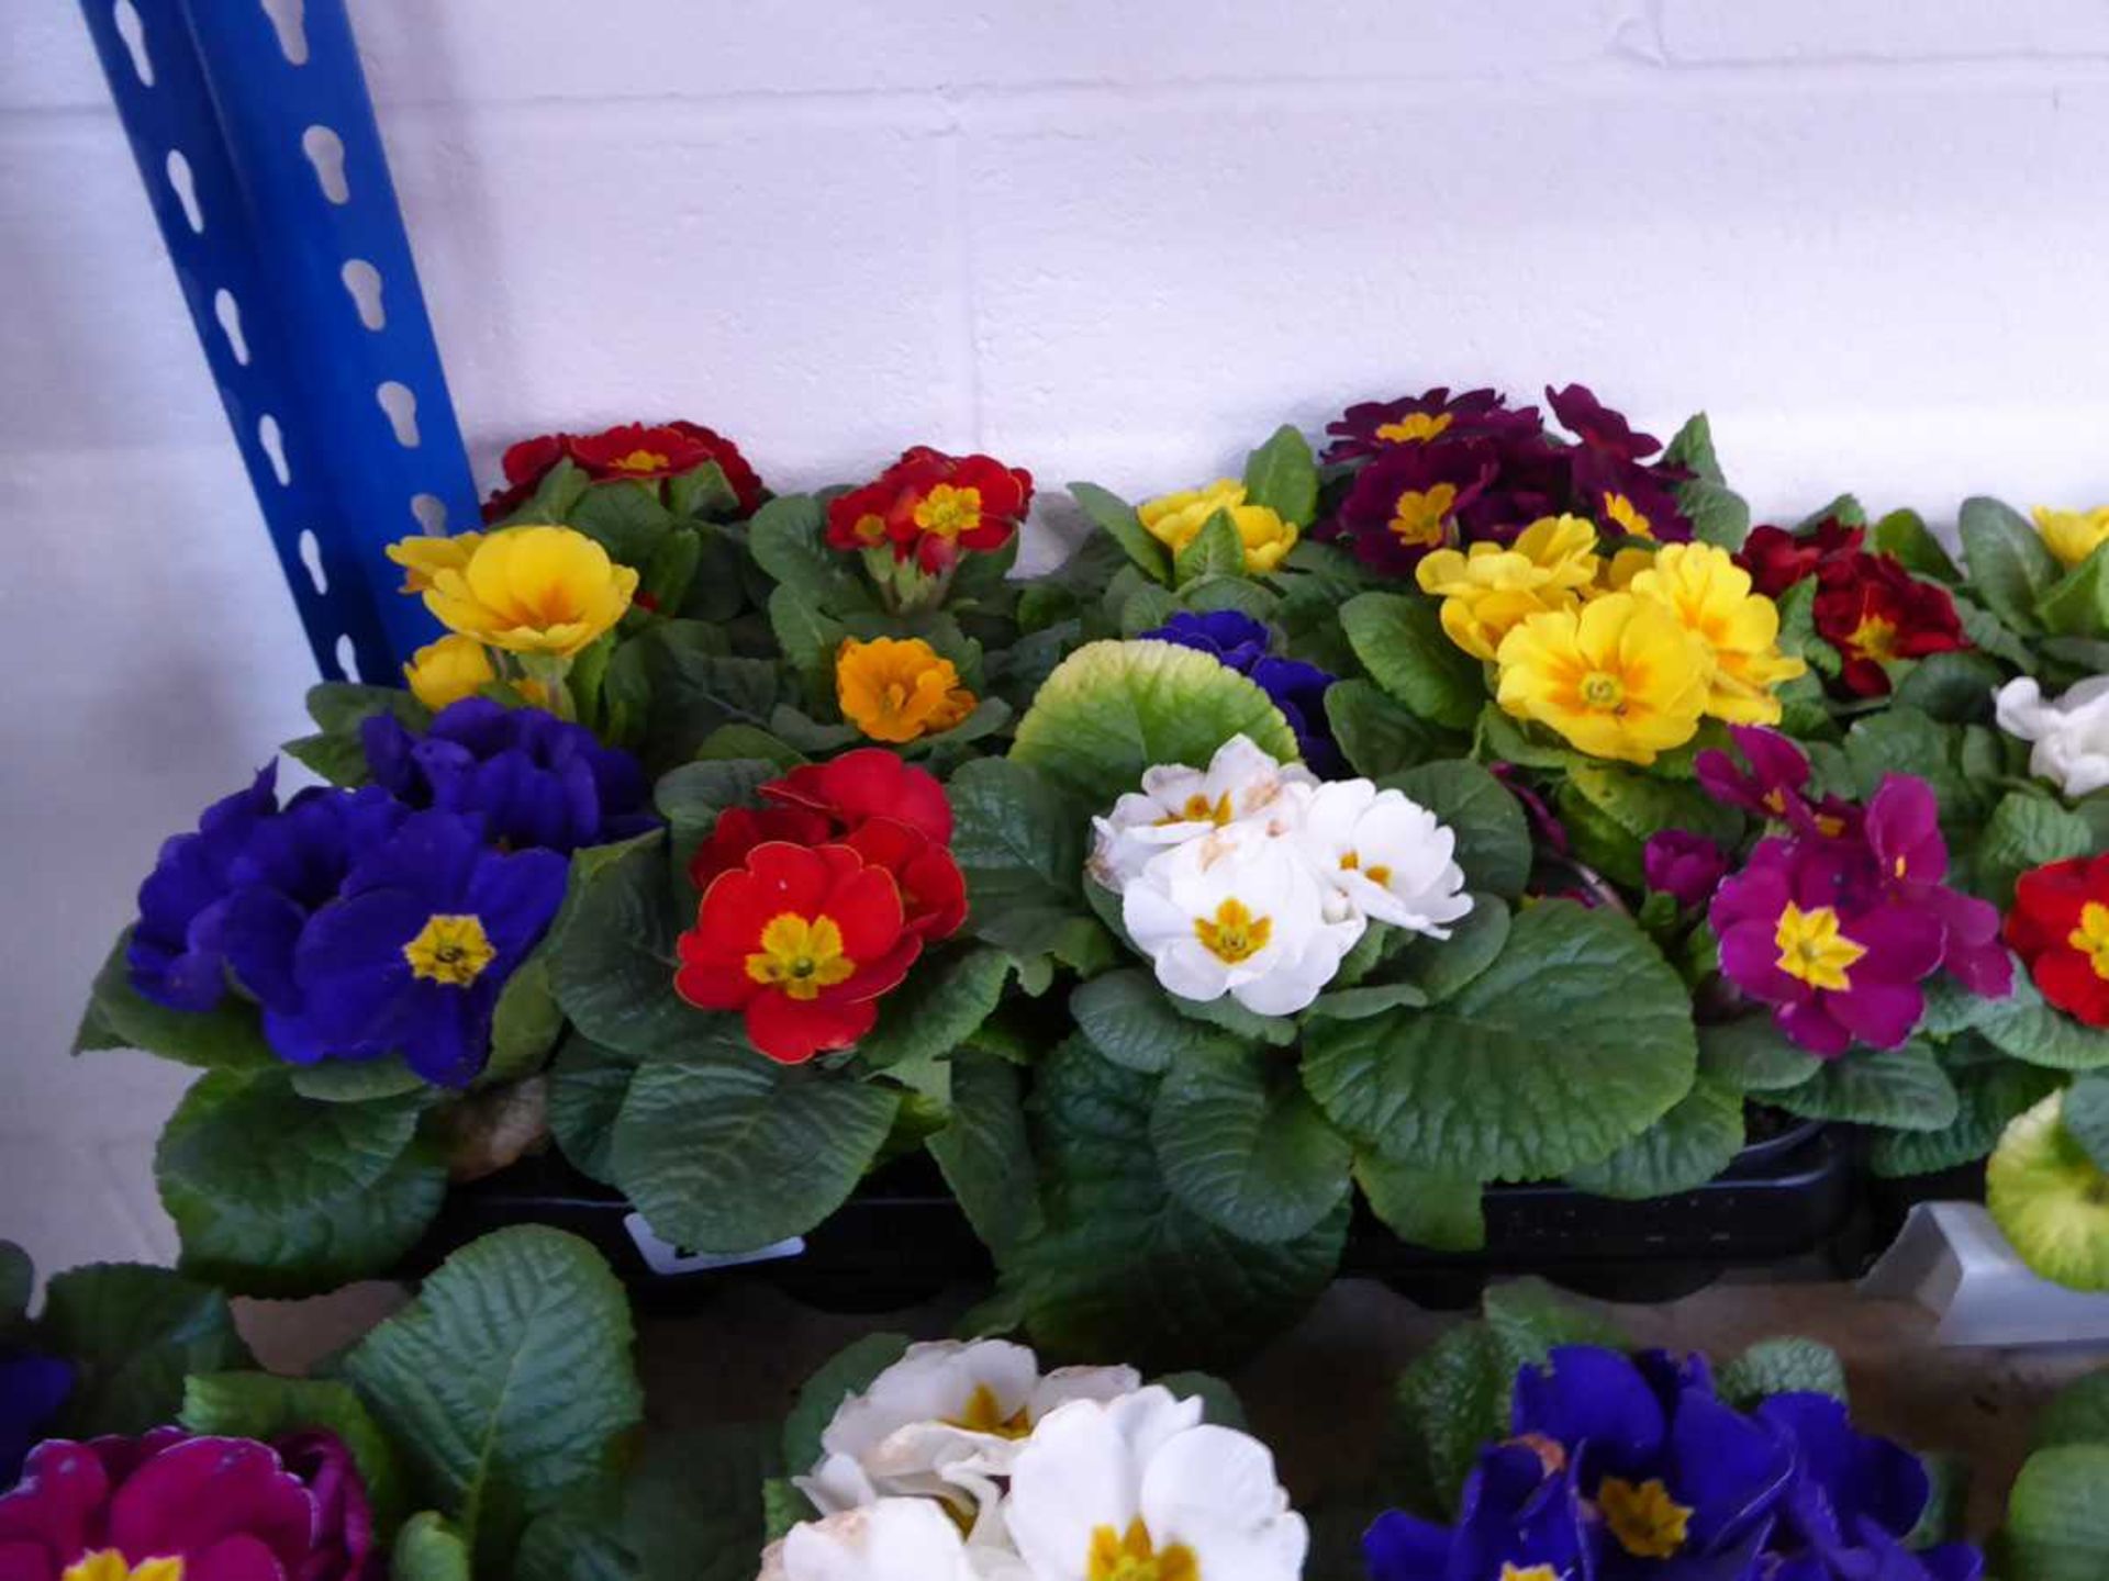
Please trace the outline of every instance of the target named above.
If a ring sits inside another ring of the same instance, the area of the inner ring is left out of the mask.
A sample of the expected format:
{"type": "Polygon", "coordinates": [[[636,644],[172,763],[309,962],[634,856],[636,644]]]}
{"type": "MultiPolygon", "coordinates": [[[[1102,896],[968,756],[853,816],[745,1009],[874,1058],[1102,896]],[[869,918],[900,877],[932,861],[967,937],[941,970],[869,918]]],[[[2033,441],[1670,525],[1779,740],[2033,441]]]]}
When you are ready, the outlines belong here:
{"type": "Polygon", "coordinates": [[[637,759],[542,708],[464,698],[422,736],[373,715],[359,740],[375,784],[411,807],[479,812],[515,850],[572,854],[658,826],[637,759]]]}

